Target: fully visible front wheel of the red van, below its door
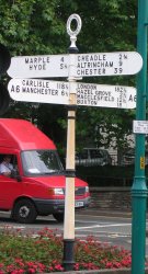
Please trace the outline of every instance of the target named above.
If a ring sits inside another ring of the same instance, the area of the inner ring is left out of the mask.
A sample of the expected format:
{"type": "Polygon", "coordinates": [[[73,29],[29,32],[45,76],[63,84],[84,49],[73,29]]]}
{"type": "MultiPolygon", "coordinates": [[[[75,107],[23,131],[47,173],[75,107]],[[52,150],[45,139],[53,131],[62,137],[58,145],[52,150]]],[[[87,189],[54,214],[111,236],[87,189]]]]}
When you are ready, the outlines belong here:
{"type": "Polygon", "coordinates": [[[30,199],[20,199],[14,205],[12,218],[21,224],[34,222],[37,217],[37,212],[34,204],[30,199]]]}

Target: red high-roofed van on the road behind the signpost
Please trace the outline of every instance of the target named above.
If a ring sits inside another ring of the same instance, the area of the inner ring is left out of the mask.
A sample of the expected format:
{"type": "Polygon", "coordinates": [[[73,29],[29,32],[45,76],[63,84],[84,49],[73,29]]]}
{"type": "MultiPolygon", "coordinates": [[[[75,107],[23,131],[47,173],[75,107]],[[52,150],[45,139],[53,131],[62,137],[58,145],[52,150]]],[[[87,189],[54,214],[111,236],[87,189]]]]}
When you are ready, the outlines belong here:
{"type": "MultiPolygon", "coordinates": [[[[0,210],[11,210],[19,222],[37,215],[64,220],[66,175],[55,144],[24,119],[0,118],[0,163],[11,157],[10,176],[0,173],[0,210]]],[[[88,207],[88,184],[76,178],[76,208],[88,207]]]]}

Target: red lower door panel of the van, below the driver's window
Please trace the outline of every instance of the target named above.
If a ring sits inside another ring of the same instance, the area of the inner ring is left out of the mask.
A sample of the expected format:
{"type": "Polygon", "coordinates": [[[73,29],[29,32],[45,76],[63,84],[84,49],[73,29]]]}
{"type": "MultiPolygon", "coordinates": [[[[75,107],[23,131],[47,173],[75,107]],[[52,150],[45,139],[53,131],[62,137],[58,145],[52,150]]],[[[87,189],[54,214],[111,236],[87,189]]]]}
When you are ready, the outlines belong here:
{"type": "Polygon", "coordinates": [[[11,209],[16,197],[22,194],[22,182],[0,174],[0,208],[11,209]]]}

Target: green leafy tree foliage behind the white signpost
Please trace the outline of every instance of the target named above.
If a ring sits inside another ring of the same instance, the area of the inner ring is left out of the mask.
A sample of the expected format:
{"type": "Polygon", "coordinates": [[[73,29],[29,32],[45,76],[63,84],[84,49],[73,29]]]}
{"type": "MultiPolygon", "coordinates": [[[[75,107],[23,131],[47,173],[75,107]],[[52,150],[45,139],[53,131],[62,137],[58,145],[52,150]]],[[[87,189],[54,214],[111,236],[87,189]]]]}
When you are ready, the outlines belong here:
{"type": "MultiPolygon", "coordinates": [[[[11,56],[65,54],[70,44],[66,22],[72,13],[78,13],[82,20],[77,41],[80,53],[136,49],[136,0],[1,0],[0,43],[8,46],[11,56]]],[[[135,77],[98,77],[82,81],[135,87],[135,77]]],[[[59,147],[66,146],[65,106],[13,101],[5,116],[31,119],[59,147]]],[[[77,147],[83,145],[83,139],[86,146],[107,147],[113,137],[117,138],[117,147],[126,147],[134,116],[134,111],[79,107],[77,147]]]]}

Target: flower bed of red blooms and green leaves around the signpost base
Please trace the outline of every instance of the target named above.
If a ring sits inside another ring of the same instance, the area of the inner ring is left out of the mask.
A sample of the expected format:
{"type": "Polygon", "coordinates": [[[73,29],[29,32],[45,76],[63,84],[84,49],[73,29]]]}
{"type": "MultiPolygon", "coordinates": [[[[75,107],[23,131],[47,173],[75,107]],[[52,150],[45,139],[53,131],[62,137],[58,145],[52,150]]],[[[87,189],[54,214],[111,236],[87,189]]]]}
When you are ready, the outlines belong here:
{"type": "MultiPolygon", "coordinates": [[[[130,253],[94,237],[76,239],[75,270],[130,267],[130,253]]],[[[36,237],[10,227],[0,232],[0,274],[62,272],[62,236],[44,228],[36,237]],[[58,235],[58,236],[57,236],[58,235]]]]}

